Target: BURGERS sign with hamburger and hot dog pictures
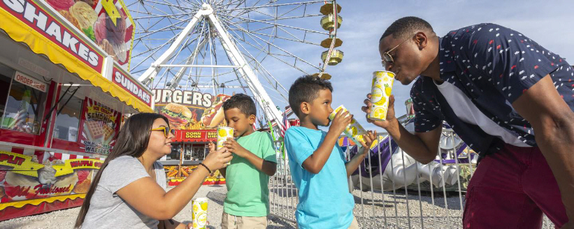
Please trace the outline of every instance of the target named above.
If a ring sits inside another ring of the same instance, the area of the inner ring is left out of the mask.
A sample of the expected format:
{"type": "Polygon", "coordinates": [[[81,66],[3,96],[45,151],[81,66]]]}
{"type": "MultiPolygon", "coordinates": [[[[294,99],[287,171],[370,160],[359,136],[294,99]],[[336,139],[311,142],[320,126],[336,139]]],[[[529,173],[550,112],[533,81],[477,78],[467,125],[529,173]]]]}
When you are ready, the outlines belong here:
{"type": "Polygon", "coordinates": [[[200,91],[154,89],[155,111],[169,120],[178,130],[213,129],[227,126],[223,102],[231,96],[213,96],[200,91]]]}

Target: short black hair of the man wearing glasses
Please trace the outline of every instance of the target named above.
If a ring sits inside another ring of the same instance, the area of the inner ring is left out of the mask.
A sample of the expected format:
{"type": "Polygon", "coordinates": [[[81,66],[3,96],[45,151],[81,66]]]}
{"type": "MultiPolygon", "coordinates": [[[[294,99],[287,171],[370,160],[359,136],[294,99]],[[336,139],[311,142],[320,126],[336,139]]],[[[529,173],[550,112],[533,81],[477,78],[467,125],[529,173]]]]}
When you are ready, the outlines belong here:
{"type": "Polygon", "coordinates": [[[406,36],[412,36],[417,31],[422,31],[424,29],[429,29],[434,32],[431,24],[419,17],[403,17],[394,21],[393,24],[385,30],[385,33],[382,34],[379,42],[382,38],[386,38],[389,35],[392,35],[393,38],[406,38],[406,36]]]}

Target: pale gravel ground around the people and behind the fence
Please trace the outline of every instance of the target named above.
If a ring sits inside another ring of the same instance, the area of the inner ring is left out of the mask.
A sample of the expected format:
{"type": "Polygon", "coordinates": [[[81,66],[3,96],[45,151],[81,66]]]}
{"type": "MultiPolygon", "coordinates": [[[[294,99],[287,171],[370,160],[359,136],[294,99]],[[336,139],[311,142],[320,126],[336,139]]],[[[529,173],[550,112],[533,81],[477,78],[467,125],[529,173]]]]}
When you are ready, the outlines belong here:
{"type": "MultiPolygon", "coordinates": [[[[210,199],[208,221],[211,225],[208,228],[221,228],[225,193],[225,186],[213,185],[201,186],[196,194],[197,198],[207,197],[210,199]]],[[[383,202],[380,191],[361,192],[354,190],[354,216],[357,217],[361,228],[461,228],[459,195],[450,193],[452,195],[449,196],[448,194],[447,198],[444,198],[442,193],[434,193],[433,205],[433,198],[431,198],[430,193],[428,195],[422,193],[419,201],[417,192],[409,192],[407,196],[404,189],[398,189],[395,193],[385,191],[385,202],[383,202]],[[445,207],[445,200],[448,207],[445,207]]],[[[294,186],[274,184],[270,189],[270,198],[273,216],[268,218],[268,228],[295,228],[294,210],[297,198],[294,186]]],[[[464,196],[462,199],[464,201],[464,196]]],[[[76,207],[1,221],[0,228],[72,228],[79,210],[80,208],[76,207]]],[[[192,219],[191,202],[174,219],[190,222],[192,219]]],[[[545,219],[543,228],[554,227],[545,219]]]]}

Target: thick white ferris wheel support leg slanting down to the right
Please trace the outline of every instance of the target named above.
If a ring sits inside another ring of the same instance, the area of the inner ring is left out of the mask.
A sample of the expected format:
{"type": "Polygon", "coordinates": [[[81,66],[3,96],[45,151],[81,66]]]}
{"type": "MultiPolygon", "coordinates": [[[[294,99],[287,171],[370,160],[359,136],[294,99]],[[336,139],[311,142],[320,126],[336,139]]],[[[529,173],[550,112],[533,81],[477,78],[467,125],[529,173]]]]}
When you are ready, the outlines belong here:
{"type": "MultiPolygon", "coordinates": [[[[241,66],[241,71],[239,71],[240,75],[243,77],[243,80],[247,83],[247,87],[249,87],[250,91],[252,91],[253,95],[255,96],[257,103],[261,105],[261,108],[264,108],[264,112],[266,113],[266,117],[271,118],[270,121],[274,121],[276,128],[279,128],[282,131],[285,131],[285,127],[282,125],[281,121],[283,119],[283,114],[276,108],[275,103],[271,100],[271,97],[265,91],[261,82],[257,80],[257,75],[253,72],[247,61],[239,52],[237,46],[231,41],[229,38],[229,34],[227,34],[227,30],[225,30],[217,16],[213,13],[209,13],[206,15],[208,20],[213,23],[215,29],[217,29],[217,34],[220,36],[220,42],[224,47],[225,52],[229,55],[231,61],[237,66],[241,66]]],[[[272,128],[269,126],[269,128],[272,128]]]]}

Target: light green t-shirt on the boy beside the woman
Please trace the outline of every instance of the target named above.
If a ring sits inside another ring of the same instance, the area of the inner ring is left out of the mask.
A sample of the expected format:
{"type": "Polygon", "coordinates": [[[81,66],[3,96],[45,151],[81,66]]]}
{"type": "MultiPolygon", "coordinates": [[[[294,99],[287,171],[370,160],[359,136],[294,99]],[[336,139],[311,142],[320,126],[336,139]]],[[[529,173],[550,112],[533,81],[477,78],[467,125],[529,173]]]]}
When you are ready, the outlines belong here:
{"type": "MultiPolygon", "coordinates": [[[[277,162],[271,135],[255,131],[237,139],[239,145],[265,161],[277,162]]],[[[267,216],[269,214],[269,176],[257,170],[247,159],[234,155],[227,166],[227,197],[223,209],[234,216],[267,216]]]]}

